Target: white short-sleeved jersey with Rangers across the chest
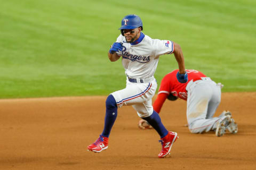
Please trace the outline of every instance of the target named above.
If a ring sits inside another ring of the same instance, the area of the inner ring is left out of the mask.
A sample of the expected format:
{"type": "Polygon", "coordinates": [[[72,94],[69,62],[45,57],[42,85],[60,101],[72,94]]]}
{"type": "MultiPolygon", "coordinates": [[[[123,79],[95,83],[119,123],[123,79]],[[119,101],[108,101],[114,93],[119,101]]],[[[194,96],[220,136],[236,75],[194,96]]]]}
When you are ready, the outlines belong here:
{"type": "Polygon", "coordinates": [[[122,63],[125,74],[130,78],[147,79],[153,77],[160,55],[172,54],[173,42],[170,40],[152,39],[141,32],[140,38],[133,43],[126,43],[125,37],[119,35],[116,43],[123,43],[122,63]]]}

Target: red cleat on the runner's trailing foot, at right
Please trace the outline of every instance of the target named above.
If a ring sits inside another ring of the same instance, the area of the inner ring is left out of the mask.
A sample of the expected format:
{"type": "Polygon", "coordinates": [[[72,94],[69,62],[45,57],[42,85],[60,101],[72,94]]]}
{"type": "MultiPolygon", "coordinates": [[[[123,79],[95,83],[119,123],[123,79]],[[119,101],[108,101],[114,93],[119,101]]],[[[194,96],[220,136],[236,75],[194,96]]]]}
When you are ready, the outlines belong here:
{"type": "Polygon", "coordinates": [[[169,132],[164,138],[159,140],[162,143],[162,150],[158,154],[158,158],[164,158],[170,154],[173,143],[179,138],[176,132],[169,132]]]}

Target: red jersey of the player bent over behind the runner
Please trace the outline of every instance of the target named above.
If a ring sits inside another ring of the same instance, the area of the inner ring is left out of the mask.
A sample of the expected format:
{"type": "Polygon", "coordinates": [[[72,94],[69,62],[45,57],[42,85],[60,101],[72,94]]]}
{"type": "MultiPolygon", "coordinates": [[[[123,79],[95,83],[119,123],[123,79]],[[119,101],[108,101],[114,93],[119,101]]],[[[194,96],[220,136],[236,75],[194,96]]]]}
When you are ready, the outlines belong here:
{"type": "Polygon", "coordinates": [[[174,70],[171,73],[165,75],[161,81],[158,94],[165,93],[169,95],[172,93],[173,96],[178,96],[183,100],[187,100],[188,94],[186,91],[186,86],[188,82],[196,78],[206,77],[206,75],[197,70],[186,70],[188,73],[188,81],[186,83],[180,83],[176,77],[178,71],[179,70],[174,70]]]}

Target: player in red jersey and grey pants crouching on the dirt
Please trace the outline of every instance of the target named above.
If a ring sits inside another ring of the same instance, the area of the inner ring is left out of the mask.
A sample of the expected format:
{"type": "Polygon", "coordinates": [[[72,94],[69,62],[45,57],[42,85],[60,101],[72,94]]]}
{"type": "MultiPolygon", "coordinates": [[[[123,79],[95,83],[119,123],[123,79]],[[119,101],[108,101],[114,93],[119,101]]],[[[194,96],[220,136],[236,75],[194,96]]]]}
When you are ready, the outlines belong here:
{"type": "MultiPolygon", "coordinates": [[[[187,121],[191,133],[215,131],[217,137],[226,133],[237,133],[238,127],[229,111],[223,111],[218,117],[213,117],[220,104],[221,83],[215,83],[209,77],[197,70],[186,70],[187,83],[176,80],[178,70],[165,75],[157,98],[153,104],[154,110],[159,113],[164,101],[181,98],[187,100],[187,121]]],[[[141,129],[150,128],[145,120],[139,121],[141,129]]]]}

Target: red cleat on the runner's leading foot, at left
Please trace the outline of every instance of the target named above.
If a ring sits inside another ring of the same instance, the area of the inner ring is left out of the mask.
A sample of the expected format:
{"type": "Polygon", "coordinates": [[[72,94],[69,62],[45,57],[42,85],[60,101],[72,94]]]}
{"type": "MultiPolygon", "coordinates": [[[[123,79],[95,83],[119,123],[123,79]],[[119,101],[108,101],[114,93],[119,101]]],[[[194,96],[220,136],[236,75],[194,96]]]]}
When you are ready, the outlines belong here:
{"type": "Polygon", "coordinates": [[[102,150],[108,149],[108,138],[100,135],[100,137],[92,143],[92,145],[89,145],[87,149],[88,151],[94,152],[101,152],[102,150]]]}

